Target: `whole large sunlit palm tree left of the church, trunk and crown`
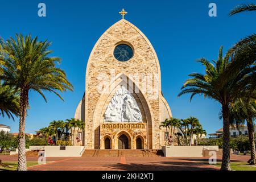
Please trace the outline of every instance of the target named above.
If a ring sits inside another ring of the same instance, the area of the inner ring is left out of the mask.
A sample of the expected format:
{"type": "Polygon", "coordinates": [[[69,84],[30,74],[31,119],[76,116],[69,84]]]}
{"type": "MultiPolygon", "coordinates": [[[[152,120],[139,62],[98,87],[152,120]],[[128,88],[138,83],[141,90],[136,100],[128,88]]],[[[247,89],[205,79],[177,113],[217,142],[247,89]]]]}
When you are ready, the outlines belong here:
{"type": "Polygon", "coordinates": [[[25,121],[29,101],[29,92],[38,92],[45,101],[43,92],[48,90],[63,100],[57,91],[72,90],[65,72],[56,67],[60,63],[59,57],[50,57],[52,51],[48,50],[50,42],[39,42],[38,37],[32,39],[31,35],[16,34],[16,40],[10,38],[1,42],[0,60],[3,70],[0,80],[4,85],[10,85],[20,90],[19,100],[19,144],[18,144],[18,170],[27,170],[25,148],[25,121]]]}

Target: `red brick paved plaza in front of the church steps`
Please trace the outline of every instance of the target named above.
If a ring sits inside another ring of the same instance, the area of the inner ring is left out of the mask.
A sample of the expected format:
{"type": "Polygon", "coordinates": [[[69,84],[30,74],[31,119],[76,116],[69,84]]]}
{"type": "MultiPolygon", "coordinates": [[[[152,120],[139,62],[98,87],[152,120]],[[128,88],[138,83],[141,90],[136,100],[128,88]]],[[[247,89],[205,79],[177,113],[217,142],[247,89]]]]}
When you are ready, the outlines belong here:
{"type": "MultiPolygon", "coordinates": [[[[245,162],[250,156],[232,156],[233,162],[245,162]]],[[[16,156],[0,156],[5,161],[17,161],[16,156]]],[[[36,157],[27,157],[28,161],[36,161],[36,157]]],[[[221,161],[221,159],[218,159],[221,161]]],[[[47,158],[47,164],[28,167],[28,170],[40,171],[201,171],[218,170],[208,164],[207,158],[164,158],[164,157],[82,157],[82,158],[47,158]]]]}

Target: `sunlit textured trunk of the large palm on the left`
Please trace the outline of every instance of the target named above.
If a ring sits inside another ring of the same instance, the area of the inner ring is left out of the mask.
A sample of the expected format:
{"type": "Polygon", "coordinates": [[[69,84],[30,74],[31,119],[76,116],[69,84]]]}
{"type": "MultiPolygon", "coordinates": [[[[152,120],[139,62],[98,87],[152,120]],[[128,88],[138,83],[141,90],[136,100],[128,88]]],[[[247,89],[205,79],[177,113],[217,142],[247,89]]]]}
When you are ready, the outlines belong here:
{"type": "Polygon", "coordinates": [[[27,171],[26,160],[26,135],[25,135],[25,121],[27,116],[28,106],[28,90],[22,89],[20,92],[20,117],[19,117],[19,135],[18,135],[18,171],[27,171]]]}

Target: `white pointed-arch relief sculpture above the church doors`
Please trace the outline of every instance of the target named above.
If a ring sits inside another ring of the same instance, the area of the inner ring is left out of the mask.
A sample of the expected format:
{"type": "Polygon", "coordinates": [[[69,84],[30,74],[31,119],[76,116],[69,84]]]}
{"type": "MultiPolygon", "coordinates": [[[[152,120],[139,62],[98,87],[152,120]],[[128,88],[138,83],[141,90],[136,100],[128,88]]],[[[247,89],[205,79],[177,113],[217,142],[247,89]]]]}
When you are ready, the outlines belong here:
{"type": "Polygon", "coordinates": [[[104,121],[142,122],[141,110],[133,95],[124,86],[121,86],[110,100],[104,121]]]}

